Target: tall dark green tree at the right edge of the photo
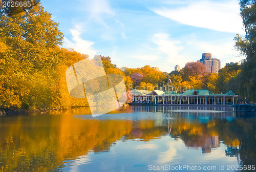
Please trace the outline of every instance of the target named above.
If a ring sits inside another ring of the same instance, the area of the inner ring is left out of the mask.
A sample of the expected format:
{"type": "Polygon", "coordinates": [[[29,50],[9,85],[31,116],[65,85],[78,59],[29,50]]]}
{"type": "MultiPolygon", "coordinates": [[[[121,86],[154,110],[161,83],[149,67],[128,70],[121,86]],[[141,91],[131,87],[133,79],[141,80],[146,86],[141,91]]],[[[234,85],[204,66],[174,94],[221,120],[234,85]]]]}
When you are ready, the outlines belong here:
{"type": "Polygon", "coordinates": [[[237,35],[236,48],[246,55],[241,66],[240,94],[248,102],[256,101],[256,1],[241,0],[240,14],[243,18],[245,37],[237,35]]]}

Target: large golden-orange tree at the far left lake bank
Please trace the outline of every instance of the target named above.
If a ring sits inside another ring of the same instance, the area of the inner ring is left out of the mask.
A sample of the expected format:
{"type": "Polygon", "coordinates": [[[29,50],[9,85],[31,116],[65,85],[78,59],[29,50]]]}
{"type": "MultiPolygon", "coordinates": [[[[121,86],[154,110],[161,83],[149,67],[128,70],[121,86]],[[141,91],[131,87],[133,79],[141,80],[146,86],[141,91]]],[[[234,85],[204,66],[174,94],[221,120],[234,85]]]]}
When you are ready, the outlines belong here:
{"type": "Polygon", "coordinates": [[[63,38],[42,6],[0,16],[0,104],[3,108],[45,108],[55,96],[56,66],[63,38]]]}

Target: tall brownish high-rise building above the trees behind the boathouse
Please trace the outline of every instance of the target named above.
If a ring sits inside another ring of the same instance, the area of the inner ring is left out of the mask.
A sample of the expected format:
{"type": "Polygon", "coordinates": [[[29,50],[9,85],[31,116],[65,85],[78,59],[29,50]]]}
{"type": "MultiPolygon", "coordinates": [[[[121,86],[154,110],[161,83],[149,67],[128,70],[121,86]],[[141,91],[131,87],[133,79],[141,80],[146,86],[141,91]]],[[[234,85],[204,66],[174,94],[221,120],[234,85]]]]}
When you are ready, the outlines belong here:
{"type": "Polygon", "coordinates": [[[203,63],[210,73],[218,73],[221,69],[221,61],[217,58],[211,58],[211,53],[203,53],[202,59],[198,61],[203,63]]]}

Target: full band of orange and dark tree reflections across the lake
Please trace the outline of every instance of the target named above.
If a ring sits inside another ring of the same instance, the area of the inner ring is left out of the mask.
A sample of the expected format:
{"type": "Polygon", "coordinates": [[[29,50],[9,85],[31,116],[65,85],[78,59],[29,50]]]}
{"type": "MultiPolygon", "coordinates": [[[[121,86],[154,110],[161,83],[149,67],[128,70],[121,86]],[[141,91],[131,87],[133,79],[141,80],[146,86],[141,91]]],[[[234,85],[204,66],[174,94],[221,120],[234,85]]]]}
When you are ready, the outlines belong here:
{"type": "Polygon", "coordinates": [[[71,114],[1,118],[0,171],[48,171],[91,151],[107,152],[117,140],[148,142],[163,135],[181,139],[187,147],[202,148],[203,153],[210,153],[222,141],[226,156],[238,157],[241,164],[255,164],[255,119],[210,119],[206,123],[185,117],[161,118],[162,122],[81,120],[71,114]]]}

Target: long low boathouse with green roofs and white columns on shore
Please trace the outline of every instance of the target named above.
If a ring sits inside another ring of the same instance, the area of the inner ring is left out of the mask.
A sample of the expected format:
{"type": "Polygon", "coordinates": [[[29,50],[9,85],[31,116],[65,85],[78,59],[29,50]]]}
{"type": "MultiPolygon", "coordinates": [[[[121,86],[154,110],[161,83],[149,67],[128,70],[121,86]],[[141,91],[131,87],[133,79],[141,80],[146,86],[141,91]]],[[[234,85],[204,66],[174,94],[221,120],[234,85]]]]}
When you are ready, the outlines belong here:
{"type": "Polygon", "coordinates": [[[134,103],[146,104],[212,104],[233,105],[238,102],[238,95],[232,91],[226,94],[212,94],[208,90],[187,90],[184,93],[163,92],[160,90],[132,90],[134,103]]]}

